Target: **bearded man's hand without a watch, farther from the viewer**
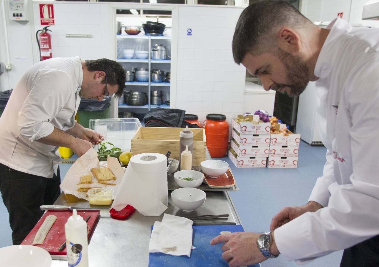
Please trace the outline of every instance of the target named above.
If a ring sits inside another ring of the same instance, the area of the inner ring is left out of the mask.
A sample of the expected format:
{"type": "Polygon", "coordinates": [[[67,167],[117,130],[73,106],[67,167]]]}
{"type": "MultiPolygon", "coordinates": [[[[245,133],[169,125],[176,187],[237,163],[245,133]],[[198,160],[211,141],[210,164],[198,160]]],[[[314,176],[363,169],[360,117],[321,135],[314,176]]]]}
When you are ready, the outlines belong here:
{"type": "Polygon", "coordinates": [[[309,201],[306,205],[299,207],[284,207],[271,220],[270,231],[290,222],[305,212],[315,212],[321,208],[323,206],[315,201],[309,201]]]}

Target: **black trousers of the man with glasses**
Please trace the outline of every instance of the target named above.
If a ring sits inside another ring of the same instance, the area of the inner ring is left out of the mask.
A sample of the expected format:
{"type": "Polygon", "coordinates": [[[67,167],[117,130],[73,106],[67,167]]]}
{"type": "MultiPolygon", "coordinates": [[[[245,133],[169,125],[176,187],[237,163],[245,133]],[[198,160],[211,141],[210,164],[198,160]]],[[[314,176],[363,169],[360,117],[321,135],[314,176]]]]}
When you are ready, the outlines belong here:
{"type": "Polygon", "coordinates": [[[58,175],[53,178],[31,175],[0,163],[0,192],[9,212],[13,245],[22,240],[41,218],[41,205],[52,205],[60,195],[58,175]]]}

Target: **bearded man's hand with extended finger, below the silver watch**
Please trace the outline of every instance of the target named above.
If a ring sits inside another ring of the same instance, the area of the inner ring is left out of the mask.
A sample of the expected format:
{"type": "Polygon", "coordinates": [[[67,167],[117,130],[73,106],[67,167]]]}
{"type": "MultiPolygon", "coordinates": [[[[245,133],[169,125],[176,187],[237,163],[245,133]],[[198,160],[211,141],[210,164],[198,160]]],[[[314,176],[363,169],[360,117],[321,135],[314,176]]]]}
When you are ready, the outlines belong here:
{"type": "Polygon", "coordinates": [[[230,267],[246,266],[266,260],[266,257],[258,250],[257,239],[260,234],[237,232],[216,236],[210,242],[211,245],[225,242],[221,249],[222,258],[229,262],[230,267]]]}

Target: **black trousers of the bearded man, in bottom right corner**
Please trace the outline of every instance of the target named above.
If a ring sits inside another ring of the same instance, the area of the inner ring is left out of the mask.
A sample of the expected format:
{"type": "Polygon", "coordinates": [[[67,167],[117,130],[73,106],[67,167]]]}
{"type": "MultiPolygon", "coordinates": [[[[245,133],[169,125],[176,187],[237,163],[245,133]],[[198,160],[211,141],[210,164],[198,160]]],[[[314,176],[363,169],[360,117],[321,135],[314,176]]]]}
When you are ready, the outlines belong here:
{"type": "Polygon", "coordinates": [[[379,235],[343,251],[340,267],[379,266],[379,235]]]}

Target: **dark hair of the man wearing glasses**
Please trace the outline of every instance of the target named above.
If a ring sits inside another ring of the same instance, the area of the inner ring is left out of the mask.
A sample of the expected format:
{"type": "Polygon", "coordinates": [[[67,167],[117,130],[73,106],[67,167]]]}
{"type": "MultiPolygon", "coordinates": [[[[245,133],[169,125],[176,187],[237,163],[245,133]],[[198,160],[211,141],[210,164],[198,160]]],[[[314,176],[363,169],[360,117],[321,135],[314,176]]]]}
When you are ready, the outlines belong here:
{"type": "MultiPolygon", "coordinates": [[[[115,95],[116,97],[121,97],[126,81],[125,70],[122,68],[121,64],[107,58],[86,60],[85,62],[88,71],[102,70],[105,72],[106,82],[108,84],[118,84],[119,88],[115,95]]],[[[105,79],[102,83],[105,83],[105,79]]]]}

